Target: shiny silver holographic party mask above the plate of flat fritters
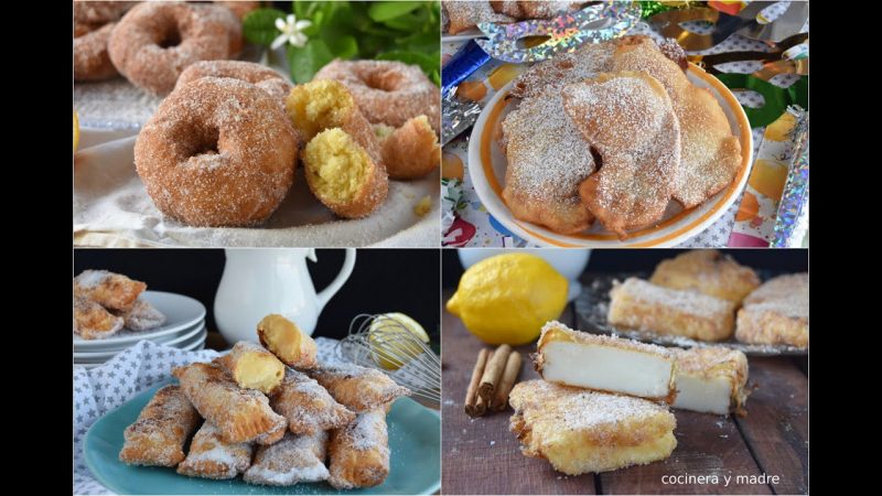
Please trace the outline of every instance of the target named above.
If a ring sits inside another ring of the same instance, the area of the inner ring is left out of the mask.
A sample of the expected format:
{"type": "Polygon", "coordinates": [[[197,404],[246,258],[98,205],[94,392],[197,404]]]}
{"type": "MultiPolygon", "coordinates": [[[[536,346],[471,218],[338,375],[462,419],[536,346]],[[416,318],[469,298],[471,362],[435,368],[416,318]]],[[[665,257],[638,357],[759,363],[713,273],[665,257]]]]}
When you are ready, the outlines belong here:
{"type": "Polygon", "coordinates": [[[584,43],[600,43],[622,36],[641,19],[639,2],[605,1],[549,20],[514,23],[484,22],[477,28],[487,40],[476,40],[491,56],[505,62],[526,63],[572,52],[584,43]],[[603,28],[598,29],[596,25],[603,28]],[[521,40],[547,37],[539,45],[525,48],[521,40]]]}

